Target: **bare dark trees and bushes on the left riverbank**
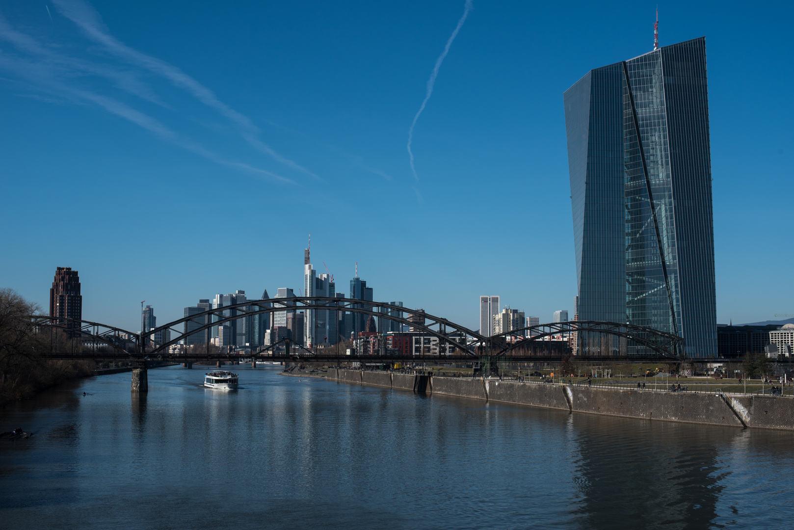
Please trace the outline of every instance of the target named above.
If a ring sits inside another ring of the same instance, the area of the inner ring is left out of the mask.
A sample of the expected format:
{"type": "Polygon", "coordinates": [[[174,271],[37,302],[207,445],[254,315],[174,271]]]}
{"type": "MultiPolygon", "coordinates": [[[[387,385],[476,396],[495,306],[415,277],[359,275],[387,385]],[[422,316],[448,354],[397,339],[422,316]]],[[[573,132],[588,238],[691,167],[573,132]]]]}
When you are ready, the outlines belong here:
{"type": "Polygon", "coordinates": [[[63,335],[36,332],[29,315],[40,312],[13,289],[0,288],[0,404],[32,397],[54,385],[94,373],[88,361],[52,361],[41,358],[50,341],[63,335]]]}

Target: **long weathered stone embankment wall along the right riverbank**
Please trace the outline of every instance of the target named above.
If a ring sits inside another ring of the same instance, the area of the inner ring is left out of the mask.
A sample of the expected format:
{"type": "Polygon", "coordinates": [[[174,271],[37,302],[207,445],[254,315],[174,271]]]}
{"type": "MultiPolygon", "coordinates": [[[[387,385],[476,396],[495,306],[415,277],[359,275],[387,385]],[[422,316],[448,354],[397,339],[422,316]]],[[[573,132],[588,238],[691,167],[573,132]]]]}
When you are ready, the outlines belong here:
{"type": "Polygon", "coordinates": [[[794,431],[794,398],[788,397],[602,389],[354,369],[329,369],[326,377],[332,381],[557,408],[570,412],[794,431]]]}

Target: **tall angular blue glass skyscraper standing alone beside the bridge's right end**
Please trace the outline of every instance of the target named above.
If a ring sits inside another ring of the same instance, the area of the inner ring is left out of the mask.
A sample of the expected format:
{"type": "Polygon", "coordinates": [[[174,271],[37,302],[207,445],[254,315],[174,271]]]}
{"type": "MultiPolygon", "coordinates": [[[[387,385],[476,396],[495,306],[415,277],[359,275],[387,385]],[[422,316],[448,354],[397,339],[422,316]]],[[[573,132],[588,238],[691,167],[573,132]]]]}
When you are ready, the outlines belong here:
{"type": "Polygon", "coordinates": [[[591,70],[565,91],[565,129],[579,319],[652,327],[684,338],[688,357],[715,357],[705,38],[591,70]]]}

